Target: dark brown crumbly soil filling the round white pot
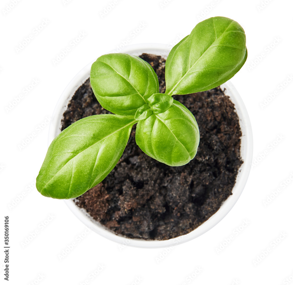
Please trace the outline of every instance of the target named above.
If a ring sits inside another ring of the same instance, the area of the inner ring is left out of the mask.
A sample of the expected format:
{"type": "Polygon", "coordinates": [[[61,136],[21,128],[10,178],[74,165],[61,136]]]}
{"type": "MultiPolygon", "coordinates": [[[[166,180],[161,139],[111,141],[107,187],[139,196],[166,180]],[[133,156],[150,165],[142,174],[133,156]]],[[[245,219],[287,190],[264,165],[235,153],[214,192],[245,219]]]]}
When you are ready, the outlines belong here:
{"type": "MultiPolygon", "coordinates": [[[[165,60],[142,54],[165,91],[165,60]]],[[[135,143],[135,125],[112,172],[75,199],[76,204],[118,235],[167,240],[185,235],[217,212],[235,184],[241,130],[234,104],[219,88],[175,95],[195,116],[200,129],[197,155],[170,167],[147,156],[135,143]]],[[[110,113],[101,107],[89,79],[76,91],[64,113],[62,130],[73,122],[110,113]]]]}

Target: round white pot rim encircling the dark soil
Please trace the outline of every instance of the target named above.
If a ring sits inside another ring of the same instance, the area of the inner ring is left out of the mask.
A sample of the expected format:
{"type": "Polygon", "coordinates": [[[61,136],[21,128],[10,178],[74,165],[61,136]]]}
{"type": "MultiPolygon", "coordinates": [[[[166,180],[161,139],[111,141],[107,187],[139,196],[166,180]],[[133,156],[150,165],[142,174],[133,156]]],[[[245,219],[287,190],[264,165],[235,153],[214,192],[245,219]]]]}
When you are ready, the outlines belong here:
{"type": "MultiPolygon", "coordinates": [[[[150,53],[155,55],[161,55],[162,57],[166,58],[168,53],[170,52],[170,48],[168,47],[168,45],[163,44],[137,44],[126,46],[123,50],[121,50],[121,52],[137,56],[141,55],[142,53],[150,53]]],[[[63,91],[55,107],[52,120],[50,123],[48,145],[50,145],[52,140],[61,132],[61,120],[63,118],[63,113],[67,109],[67,105],[72,96],[74,95],[75,91],[79,88],[79,86],[81,86],[86,81],[86,79],[88,79],[90,75],[91,65],[93,62],[86,65],[86,67],[84,67],[78,74],[76,74],[76,76],[71,80],[71,82],[63,91]]],[[[232,207],[238,200],[239,196],[241,195],[251,169],[253,154],[251,123],[244,103],[239,93],[236,91],[235,87],[233,86],[233,84],[231,84],[230,81],[221,85],[221,88],[226,88],[226,95],[228,95],[231,101],[235,104],[235,109],[239,116],[239,123],[242,132],[240,151],[243,164],[239,169],[236,178],[236,183],[232,190],[233,195],[230,195],[228,199],[226,199],[226,201],[223,202],[219,210],[207,221],[205,221],[202,225],[200,225],[198,228],[188,233],[187,235],[183,235],[170,240],[158,241],[130,239],[119,235],[115,235],[105,226],[93,220],[84,209],[76,206],[73,199],[65,200],[65,203],[67,204],[69,209],[74,213],[74,215],[77,218],[79,218],[79,220],[81,220],[88,228],[90,228],[94,232],[102,235],[103,237],[108,238],[109,240],[113,240],[120,244],[130,245],[134,247],[159,248],[174,246],[177,244],[181,244],[183,242],[187,242],[189,240],[193,240],[194,238],[206,233],[208,230],[217,225],[217,223],[219,223],[219,221],[222,220],[227,215],[227,213],[232,209],[232,207]]]]}

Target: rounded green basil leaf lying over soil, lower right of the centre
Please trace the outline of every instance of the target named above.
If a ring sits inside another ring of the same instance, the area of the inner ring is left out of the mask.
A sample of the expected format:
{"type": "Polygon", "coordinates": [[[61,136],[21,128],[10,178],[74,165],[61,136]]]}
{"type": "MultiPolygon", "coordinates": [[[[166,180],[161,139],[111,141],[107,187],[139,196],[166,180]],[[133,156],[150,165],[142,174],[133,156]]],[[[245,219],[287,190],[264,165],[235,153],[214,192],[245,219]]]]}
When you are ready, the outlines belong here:
{"type": "Polygon", "coordinates": [[[200,135],[193,114],[174,100],[165,112],[139,121],[135,139],[150,157],[170,166],[181,166],[195,157],[200,135]]]}

